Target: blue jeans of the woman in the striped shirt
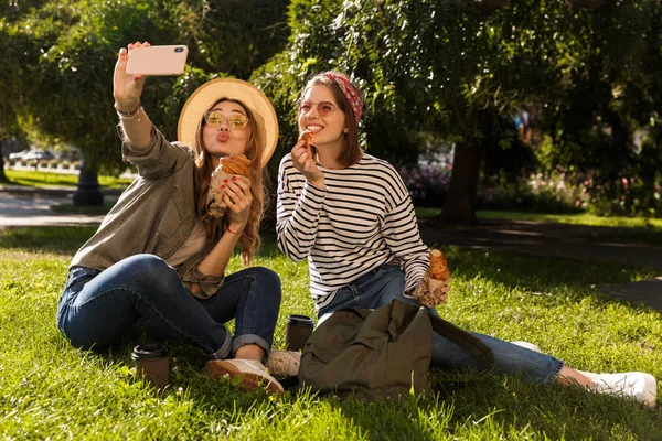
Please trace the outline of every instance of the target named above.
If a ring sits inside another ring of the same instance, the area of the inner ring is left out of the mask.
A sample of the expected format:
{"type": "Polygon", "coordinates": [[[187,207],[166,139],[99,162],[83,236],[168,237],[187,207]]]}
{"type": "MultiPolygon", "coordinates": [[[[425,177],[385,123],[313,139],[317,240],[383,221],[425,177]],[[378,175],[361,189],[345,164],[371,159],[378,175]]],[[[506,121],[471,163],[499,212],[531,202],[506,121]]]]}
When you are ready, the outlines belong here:
{"type": "MultiPolygon", "coordinates": [[[[377,270],[361,276],[353,283],[339,290],[335,299],[320,309],[319,321],[323,321],[333,311],[343,308],[380,308],[394,299],[419,305],[414,299],[403,295],[405,273],[395,265],[384,265],[377,270]]],[[[435,309],[428,310],[439,315],[435,309]]],[[[506,375],[522,375],[536,383],[553,383],[565,365],[563,361],[514,345],[503,340],[471,332],[480,338],[496,359],[495,372],[506,375]]],[[[431,367],[441,369],[480,368],[478,361],[451,341],[434,333],[431,367]]]]}

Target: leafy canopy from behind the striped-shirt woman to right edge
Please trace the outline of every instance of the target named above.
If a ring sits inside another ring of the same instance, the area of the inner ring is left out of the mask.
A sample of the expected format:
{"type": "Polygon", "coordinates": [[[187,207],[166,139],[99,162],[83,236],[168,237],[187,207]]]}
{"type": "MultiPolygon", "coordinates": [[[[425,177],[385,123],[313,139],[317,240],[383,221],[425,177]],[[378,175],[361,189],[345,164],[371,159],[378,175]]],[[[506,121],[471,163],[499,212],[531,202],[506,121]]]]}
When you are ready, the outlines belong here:
{"type": "MultiPolygon", "coordinates": [[[[647,100],[641,120],[650,120],[660,103],[653,93],[662,89],[653,87],[660,77],[654,67],[660,65],[659,8],[652,0],[613,1],[599,9],[519,0],[485,15],[472,2],[452,0],[297,0],[288,12],[288,45],[253,78],[278,109],[281,152],[296,140],[293,103],[300,87],[316,72],[339,68],[365,92],[369,112],[363,128],[371,153],[396,164],[413,163],[421,150],[417,136],[428,132],[460,150],[473,142],[473,154],[485,154],[484,173],[490,176],[505,171],[494,165],[505,149],[494,147],[515,139],[499,116],[511,115],[520,105],[536,104],[545,118],[564,121],[555,132],[566,133],[572,122],[608,118],[609,107],[596,94],[621,90],[619,85],[628,78],[629,88],[640,84],[637,90],[645,92],[630,96],[647,100]],[[495,132],[501,137],[490,141],[495,132]]],[[[629,109],[638,107],[633,99],[628,103],[629,109]]],[[[604,142],[584,135],[573,138],[584,139],[575,149],[577,158],[591,158],[581,154],[589,143],[596,153],[605,151],[604,142]]],[[[555,154],[572,158],[568,149],[569,141],[557,142],[555,154]]],[[[458,165],[468,160],[456,158],[458,165]]],[[[610,154],[610,164],[621,163],[621,158],[610,154]]],[[[649,174],[660,169],[652,155],[641,158],[638,166],[649,174]]],[[[522,174],[532,171],[531,154],[527,161],[522,174]]],[[[473,179],[478,182],[480,160],[474,162],[455,169],[476,175],[465,178],[469,192],[478,187],[471,184],[473,179]]],[[[610,164],[602,163],[605,169],[610,164]]],[[[612,182],[613,173],[608,174],[606,182],[612,182]]],[[[645,182],[651,190],[650,180],[645,182]]]]}

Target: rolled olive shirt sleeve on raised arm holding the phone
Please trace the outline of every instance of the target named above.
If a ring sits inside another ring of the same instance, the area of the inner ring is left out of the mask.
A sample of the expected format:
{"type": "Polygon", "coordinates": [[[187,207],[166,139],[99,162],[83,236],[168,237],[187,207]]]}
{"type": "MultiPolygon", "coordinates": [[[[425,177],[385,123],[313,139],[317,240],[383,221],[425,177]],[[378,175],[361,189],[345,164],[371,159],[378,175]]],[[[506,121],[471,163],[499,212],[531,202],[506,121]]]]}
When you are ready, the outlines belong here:
{"type": "Polygon", "coordinates": [[[184,144],[169,142],[153,126],[147,147],[138,149],[128,140],[121,144],[122,160],[136,165],[138,174],[147,180],[157,180],[174,173],[192,154],[193,151],[184,144]]]}

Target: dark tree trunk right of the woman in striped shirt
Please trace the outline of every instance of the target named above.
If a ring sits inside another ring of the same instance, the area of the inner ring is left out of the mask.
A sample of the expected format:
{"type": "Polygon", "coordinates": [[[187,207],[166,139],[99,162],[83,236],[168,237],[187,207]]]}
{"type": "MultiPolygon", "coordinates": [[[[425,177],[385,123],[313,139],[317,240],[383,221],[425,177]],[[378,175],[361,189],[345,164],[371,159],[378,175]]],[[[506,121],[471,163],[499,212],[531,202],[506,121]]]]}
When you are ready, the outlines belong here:
{"type": "Polygon", "coordinates": [[[478,225],[476,218],[476,201],[478,198],[478,182],[482,160],[483,133],[488,133],[493,117],[490,110],[478,112],[477,136],[467,136],[455,146],[452,174],[448,195],[441,214],[437,220],[441,225],[478,225]]]}

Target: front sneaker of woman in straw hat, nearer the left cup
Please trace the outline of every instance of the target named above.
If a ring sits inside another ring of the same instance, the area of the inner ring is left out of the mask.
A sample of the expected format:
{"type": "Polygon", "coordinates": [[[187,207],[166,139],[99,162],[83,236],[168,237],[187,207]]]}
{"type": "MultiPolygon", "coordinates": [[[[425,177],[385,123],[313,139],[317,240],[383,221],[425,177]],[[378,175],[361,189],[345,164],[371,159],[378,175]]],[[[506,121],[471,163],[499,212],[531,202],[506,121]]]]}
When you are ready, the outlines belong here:
{"type": "Polygon", "coordinates": [[[254,390],[257,387],[264,387],[267,392],[282,394],[285,391],[280,383],[269,375],[269,369],[256,359],[210,359],[204,365],[204,370],[212,378],[238,377],[241,378],[239,387],[243,389],[254,390]]]}

